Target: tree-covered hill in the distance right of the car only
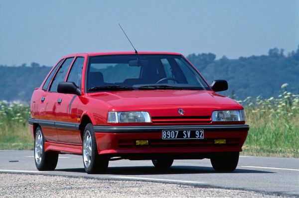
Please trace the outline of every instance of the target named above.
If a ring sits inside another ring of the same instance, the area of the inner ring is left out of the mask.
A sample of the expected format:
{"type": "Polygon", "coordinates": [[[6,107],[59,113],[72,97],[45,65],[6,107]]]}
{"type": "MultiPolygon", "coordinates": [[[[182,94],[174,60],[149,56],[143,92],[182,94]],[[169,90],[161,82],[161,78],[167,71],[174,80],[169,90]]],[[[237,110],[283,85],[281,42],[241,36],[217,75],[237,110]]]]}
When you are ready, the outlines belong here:
{"type": "Polygon", "coordinates": [[[279,95],[281,85],[299,93],[299,48],[287,56],[283,50],[270,49],[268,55],[215,60],[214,54],[191,54],[187,59],[194,64],[209,84],[216,79],[228,81],[229,89],[221,94],[236,99],[248,96],[270,98],[279,95]]]}

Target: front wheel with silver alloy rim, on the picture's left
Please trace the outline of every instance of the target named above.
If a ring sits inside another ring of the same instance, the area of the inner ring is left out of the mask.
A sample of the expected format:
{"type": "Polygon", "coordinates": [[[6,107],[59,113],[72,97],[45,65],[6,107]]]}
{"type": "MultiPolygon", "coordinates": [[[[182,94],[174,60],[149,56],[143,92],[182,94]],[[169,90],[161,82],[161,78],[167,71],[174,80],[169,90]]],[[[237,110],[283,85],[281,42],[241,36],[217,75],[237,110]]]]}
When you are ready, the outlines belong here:
{"type": "Polygon", "coordinates": [[[104,173],[107,171],[109,158],[98,154],[98,147],[93,125],[87,124],[83,133],[82,157],[87,174],[104,173]]]}

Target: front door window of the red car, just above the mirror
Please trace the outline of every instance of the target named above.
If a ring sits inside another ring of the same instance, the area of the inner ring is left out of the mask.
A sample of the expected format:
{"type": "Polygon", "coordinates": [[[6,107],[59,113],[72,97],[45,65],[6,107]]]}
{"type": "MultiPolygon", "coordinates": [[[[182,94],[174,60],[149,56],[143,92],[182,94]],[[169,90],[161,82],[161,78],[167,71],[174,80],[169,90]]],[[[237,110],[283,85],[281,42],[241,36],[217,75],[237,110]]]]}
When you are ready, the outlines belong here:
{"type": "Polygon", "coordinates": [[[81,88],[83,64],[84,64],[84,58],[77,57],[71,68],[69,76],[67,77],[67,82],[74,82],[80,88],[81,88]]]}

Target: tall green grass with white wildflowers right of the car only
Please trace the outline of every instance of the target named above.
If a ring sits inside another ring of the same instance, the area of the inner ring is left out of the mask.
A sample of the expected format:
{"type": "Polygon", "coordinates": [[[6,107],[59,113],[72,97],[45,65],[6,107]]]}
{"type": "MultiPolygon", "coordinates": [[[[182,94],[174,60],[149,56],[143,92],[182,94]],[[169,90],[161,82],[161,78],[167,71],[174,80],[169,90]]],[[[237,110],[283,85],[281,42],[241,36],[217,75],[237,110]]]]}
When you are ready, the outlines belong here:
{"type": "Polygon", "coordinates": [[[250,126],[243,155],[299,157],[299,95],[286,86],[278,98],[239,101],[250,126]]]}

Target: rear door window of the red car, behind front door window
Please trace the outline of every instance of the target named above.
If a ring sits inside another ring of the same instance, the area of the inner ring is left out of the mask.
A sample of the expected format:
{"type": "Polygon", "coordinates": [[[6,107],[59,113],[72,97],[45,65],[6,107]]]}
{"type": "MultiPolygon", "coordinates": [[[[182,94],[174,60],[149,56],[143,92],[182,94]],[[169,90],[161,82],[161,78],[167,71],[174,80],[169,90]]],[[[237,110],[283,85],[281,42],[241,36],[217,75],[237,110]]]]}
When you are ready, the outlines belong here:
{"type": "Polygon", "coordinates": [[[67,58],[65,61],[62,63],[60,68],[58,69],[56,76],[53,79],[53,82],[50,87],[50,91],[52,92],[57,92],[57,86],[60,82],[64,81],[65,75],[72,63],[74,58],[67,58]]]}

